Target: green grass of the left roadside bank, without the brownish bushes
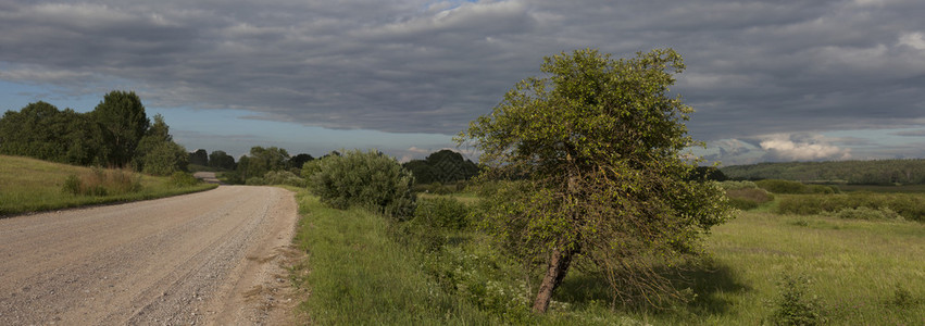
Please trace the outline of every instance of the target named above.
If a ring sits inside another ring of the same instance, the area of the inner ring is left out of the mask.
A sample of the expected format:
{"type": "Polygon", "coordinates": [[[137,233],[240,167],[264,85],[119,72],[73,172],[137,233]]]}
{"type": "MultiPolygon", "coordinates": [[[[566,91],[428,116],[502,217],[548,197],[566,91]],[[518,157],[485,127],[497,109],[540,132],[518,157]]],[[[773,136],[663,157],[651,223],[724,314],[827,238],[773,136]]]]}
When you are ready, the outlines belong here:
{"type": "MultiPolygon", "coordinates": [[[[124,175],[120,171],[104,171],[124,175]]],[[[107,196],[79,196],[63,190],[71,176],[98,174],[90,167],[51,163],[35,159],[0,155],[0,216],[171,197],[214,189],[216,185],[178,187],[171,177],[137,175],[140,189],[107,196]]]]}

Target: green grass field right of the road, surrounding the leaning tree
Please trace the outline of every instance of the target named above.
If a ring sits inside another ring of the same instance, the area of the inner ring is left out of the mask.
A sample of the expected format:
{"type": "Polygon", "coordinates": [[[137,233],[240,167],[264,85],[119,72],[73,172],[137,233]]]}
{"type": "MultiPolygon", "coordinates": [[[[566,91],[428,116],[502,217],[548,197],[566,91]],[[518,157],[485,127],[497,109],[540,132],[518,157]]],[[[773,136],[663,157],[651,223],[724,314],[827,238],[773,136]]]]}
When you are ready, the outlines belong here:
{"type": "Polygon", "coordinates": [[[497,267],[503,258],[478,231],[446,233],[440,251],[424,252],[412,240],[397,241],[389,230],[395,226],[380,216],[299,196],[304,217],[298,243],[309,252],[300,268],[311,272],[297,284],[312,293],[301,309],[323,325],[762,325],[780,305],[785,278],[804,280],[804,299],[827,325],[925,323],[922,223],[741,212],[705,238],[707,267],[684,274],[692,301],[612,310],[602,285],[573,269],[552,311],[536,316],[486,303],[526,296],[504,297],[518,284],[497,267]],[[440,287],[446,277],[435,275],[450,275],[455,290],[440,287]],[[473,284],[488,289],[464,289],[473,284]]]}

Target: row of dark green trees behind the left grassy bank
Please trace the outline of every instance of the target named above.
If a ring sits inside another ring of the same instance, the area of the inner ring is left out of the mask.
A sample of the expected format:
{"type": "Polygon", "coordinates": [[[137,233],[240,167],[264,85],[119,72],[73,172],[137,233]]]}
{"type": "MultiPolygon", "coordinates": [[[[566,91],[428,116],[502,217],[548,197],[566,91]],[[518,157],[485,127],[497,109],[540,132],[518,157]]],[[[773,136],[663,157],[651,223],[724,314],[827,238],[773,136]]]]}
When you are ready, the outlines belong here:
{"type": "Polygon", "coordinates": [[[114,90],[87,113],[38,101],[0,117],[0,154],[152,175],[185,171],[186,149],[160,114],[153,123],[134,91],[114,90]]]}

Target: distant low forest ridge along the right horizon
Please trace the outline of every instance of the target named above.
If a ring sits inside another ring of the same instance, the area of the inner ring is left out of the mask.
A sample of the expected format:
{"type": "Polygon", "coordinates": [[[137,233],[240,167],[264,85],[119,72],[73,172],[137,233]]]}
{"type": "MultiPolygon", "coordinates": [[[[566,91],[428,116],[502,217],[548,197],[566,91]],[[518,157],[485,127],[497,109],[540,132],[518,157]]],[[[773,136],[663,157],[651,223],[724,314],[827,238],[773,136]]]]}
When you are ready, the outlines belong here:
{"type": "Polygon", "coordinates": [[[853,185],[925,184],[925,160],[759,163],[721,167],[730,179],[784,179],[853,185]]]}

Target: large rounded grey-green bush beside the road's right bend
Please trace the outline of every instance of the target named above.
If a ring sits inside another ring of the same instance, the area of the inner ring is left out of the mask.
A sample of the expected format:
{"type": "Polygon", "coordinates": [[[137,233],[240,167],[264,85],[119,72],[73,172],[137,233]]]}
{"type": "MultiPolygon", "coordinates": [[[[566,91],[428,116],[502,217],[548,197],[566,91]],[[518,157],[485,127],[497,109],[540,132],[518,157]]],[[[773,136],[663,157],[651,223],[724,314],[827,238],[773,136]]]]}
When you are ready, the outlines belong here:
{"type": "Polygon", "coordinates": [[[413,177],[393,158],[377,151],[348,151],[317,162],[309,189],[336,209],[360,205],[404,220],[413,214],[413,177]]]}

